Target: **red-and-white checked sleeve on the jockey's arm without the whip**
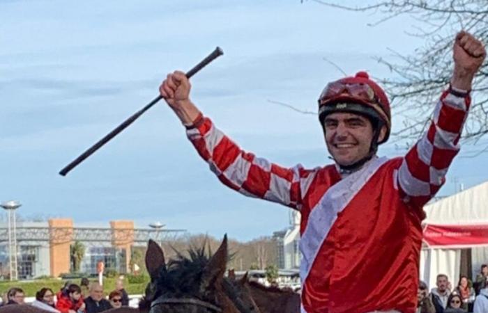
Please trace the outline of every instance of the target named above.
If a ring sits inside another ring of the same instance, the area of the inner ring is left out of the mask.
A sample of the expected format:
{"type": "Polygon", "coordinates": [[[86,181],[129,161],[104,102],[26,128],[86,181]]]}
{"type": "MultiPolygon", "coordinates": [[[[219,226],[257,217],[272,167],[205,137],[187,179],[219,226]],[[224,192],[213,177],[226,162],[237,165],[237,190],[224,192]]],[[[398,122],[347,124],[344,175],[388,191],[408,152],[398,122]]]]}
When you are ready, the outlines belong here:
{"type": "Polygon", "coordinates": [[[441,95],[429,129],[399,167],[397,182],[406,200],[422,207],[444,184],[450,163],[459,152],[470,104],[464,90],[445,90],[441,95]]]}

